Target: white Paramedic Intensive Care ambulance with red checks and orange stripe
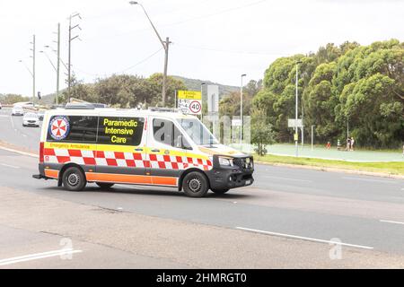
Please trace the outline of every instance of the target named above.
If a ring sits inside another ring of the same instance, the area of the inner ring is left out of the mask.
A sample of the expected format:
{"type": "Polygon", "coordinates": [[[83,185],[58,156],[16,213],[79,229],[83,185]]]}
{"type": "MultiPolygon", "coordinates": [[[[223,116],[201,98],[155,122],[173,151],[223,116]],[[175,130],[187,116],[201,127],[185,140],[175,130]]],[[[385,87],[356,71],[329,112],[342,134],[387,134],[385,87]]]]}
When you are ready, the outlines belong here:
{"type": "Polygon", "coordinates": [[[81,191],[88,183],[176,187],[186,196],[250,186],[252,156],[220,144],[198,117],[174,109],[67,104],[45,113],[40,174],[81,191]]]}

